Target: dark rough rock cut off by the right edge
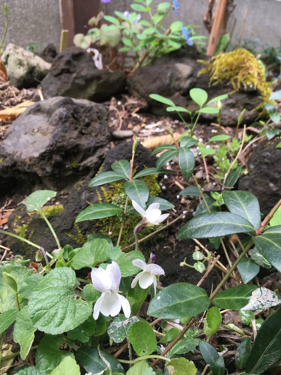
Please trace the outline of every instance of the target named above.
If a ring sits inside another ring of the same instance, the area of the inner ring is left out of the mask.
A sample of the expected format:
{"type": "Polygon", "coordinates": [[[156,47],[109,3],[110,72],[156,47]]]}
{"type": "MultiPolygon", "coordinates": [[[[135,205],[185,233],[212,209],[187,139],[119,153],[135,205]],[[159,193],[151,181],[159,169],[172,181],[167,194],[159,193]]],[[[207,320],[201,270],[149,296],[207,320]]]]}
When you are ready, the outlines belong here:
{"type": "Polygon", "coordinates": [[[275,148],[280,139],[257,144],[248,160],[248,175],[240,178],[239,190],[256,195],[260,211],[267,215],[281,199],[281,149],[275,148]]]}

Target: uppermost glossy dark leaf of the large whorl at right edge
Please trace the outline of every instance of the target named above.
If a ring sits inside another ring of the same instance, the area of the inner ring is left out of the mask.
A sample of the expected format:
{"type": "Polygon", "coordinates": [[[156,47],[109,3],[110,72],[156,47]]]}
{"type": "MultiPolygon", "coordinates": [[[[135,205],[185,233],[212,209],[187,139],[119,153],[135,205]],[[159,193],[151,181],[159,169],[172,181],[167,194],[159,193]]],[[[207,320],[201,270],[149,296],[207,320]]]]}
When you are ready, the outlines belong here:
{"type": "Polygon", "coordinates": [[[254,194],[247,191],[223,191],[223,200],[231,213],[244,217],[254,228],[260,226],[260,205],[254,194]]]}

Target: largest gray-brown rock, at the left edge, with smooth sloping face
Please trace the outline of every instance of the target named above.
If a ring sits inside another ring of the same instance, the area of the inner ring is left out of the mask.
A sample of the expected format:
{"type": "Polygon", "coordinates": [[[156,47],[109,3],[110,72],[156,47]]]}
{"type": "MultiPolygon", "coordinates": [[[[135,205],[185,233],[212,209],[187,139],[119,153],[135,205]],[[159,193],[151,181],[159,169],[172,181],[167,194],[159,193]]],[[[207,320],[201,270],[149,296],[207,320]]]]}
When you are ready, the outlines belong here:
{"type": "Polygon", "coordinates": [[[13,122],[0,146],[2,182],[60,190],[94,175],[108,148],[107,120],[103,105],[85,99],[37,102],[13,122]]]}

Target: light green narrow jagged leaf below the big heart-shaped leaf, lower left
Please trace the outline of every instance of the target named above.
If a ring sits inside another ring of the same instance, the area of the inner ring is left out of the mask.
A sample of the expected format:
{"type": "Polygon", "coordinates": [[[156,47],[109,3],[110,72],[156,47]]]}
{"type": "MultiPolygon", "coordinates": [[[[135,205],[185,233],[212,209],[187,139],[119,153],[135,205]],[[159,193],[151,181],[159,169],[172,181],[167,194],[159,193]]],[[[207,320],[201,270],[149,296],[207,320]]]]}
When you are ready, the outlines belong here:
{"type": "Polygon", "coordinates": [[[31,345],[34,340],[34,332],[36,328],[33,326],[30,320],[28,312],[28,306],[19,311],[16,317],[16,322],[13,330],[13,338],[15,342],[21,347],[20,355],[21,359],[25,360],[28,352],[30,351],[31,345]]]}

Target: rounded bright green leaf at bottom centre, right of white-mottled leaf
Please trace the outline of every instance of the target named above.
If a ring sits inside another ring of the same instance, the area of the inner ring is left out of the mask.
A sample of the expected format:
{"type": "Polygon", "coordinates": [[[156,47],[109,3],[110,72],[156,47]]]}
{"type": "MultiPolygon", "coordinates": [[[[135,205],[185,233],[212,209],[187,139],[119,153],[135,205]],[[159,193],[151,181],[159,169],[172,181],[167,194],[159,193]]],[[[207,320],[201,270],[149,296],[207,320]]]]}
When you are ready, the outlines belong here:
{"type": "Polygon", "coordinates": [[[135,322],[130,327],[128,338],[138,356],[148,356],[157,345],[153,329],[146,321],[135,322]]]}

